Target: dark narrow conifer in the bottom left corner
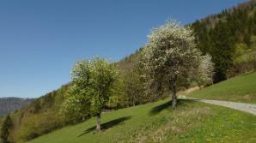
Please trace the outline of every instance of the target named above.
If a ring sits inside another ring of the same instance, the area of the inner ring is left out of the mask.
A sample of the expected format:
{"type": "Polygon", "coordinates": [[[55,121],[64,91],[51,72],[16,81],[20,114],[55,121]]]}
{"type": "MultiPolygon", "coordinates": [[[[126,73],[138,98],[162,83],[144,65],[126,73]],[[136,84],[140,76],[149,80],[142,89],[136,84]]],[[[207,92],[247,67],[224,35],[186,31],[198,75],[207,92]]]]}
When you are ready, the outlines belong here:
{"type": "Polygon", "coordinates": [[[10,116],[6,116],[1,126],[0,139],[3,143],[9,143],[9,131],[13,126],[10,116]]]}

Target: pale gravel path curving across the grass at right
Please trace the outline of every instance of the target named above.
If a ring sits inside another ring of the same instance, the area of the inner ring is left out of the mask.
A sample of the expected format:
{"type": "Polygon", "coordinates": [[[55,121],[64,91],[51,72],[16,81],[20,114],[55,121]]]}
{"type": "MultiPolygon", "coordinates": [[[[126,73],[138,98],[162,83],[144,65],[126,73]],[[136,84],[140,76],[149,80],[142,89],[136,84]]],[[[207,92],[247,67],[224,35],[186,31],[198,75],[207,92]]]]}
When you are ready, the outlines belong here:
{"type": "Polygon", "coordinates": [[[229,101],[219,101],[219,100],[208,100],[208,99],[200,99],[200,98],[187,98],[186,96],[181,96],[180,98],[184,99],[193,99],[200,102],[204,102],[207,104],[216,104],[225,107],[229,107],[235,110],[245,111],[247,113],[251,113],[256,116],[256,104],[243,104],[243,103],[236,103],[236,102],[229,102],[229,101]]]}

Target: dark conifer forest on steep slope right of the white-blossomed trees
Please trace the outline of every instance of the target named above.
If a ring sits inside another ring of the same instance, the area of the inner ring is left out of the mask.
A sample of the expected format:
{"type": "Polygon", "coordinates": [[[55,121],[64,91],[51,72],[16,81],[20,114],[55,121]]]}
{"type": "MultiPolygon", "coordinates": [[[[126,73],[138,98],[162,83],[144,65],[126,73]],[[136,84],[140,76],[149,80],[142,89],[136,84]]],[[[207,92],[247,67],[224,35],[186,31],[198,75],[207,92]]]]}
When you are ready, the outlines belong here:
{"type": "Polygon", "coordinates": [[[256,1],[192,23],[198,48],[215,63],[215,82],[256,68],[256,1]]]}

